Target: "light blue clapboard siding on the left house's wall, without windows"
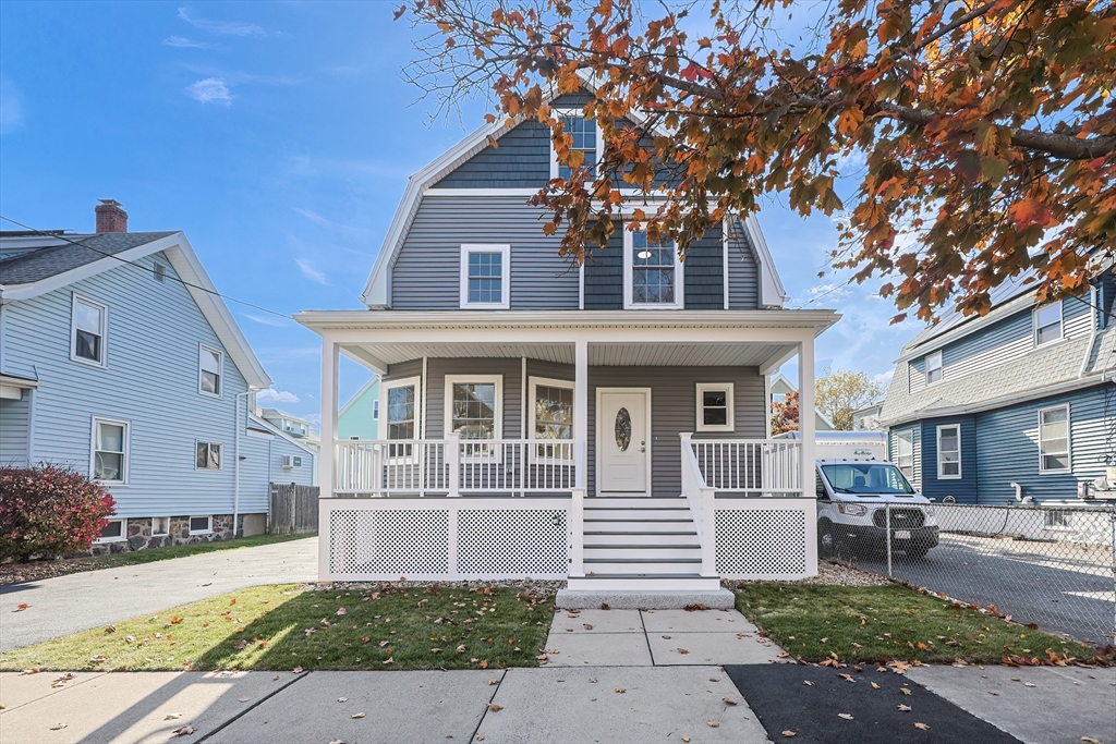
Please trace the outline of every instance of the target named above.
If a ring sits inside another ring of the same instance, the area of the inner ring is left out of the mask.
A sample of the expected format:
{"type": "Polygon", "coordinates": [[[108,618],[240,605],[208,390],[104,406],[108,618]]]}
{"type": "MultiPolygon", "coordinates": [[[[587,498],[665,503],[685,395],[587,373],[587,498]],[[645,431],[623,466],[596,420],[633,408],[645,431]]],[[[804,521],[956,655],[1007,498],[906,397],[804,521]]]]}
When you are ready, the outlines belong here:
{"type": "Polygon", "coordinates": [[[155,280],[153,258],[9,303],[4,365],[11,374],[37,371],[37,461],[88,472],[93,418],[128,421],[129,483],[109,487],[119,515],[229,514],[235,394],[247,383],[225,354],[223,396],[198,393],[199,344],[222,346],[182,283],[155,280]],[[75,291],[108,306],[104,369],[70,360],[75,291]],[[194,470],[195,439],[224,445],[222,471],[194,470]]]}

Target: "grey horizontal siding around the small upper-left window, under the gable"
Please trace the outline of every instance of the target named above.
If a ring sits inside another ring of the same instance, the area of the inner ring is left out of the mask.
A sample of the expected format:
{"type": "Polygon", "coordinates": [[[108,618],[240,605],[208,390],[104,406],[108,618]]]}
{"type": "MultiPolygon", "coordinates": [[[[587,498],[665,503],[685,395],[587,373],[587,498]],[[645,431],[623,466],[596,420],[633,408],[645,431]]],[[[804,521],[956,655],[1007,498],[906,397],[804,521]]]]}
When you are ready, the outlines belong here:
{"type": "Polygon", "coordinates": [[[576,310],[578,271],[521,196],[424,197],[392,268],[392,308],[461,307],[461,244],[511,245],[512,310],[576,310]]]}

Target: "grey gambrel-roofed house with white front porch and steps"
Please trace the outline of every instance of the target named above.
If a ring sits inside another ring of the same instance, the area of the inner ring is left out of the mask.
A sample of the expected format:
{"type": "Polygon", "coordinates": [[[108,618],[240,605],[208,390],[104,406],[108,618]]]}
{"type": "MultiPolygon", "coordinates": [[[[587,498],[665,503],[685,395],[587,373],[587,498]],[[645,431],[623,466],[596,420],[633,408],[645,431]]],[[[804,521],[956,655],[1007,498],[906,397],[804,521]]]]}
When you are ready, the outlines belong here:
{"type": "MultiPolygon", "coordinates": [[[[586,100],[552,105],[591,163],[586,100]]],[[[785,309],[754,216],[685,261],[620,219],[570,263],[527,203],[559,174],[545,126],[482,127],[411,177],[367,309],[298,316],[324,342],[321,578],[685,592],[816,572],[812,431],[769,439],[769,380],[799,355],[812,429],[814,339],[838,316],[785,309]],[[337,441],[339,354],[382,375],[376,441],[337,441]]]]}

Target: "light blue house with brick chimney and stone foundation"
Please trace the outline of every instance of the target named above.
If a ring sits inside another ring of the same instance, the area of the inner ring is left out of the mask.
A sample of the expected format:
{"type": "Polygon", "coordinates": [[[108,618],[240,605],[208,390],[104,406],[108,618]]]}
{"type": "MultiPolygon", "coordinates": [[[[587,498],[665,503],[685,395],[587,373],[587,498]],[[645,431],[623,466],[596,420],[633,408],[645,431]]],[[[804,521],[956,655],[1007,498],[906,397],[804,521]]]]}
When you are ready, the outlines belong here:
{"type": "Polygon", "coordinates": [[[185,235],[96,212],[0,232],[0,465],[103,483],[100,551],[262,532],[269,483],[309,483],[314,454],[249,415],[271,380],[185,235]]]}

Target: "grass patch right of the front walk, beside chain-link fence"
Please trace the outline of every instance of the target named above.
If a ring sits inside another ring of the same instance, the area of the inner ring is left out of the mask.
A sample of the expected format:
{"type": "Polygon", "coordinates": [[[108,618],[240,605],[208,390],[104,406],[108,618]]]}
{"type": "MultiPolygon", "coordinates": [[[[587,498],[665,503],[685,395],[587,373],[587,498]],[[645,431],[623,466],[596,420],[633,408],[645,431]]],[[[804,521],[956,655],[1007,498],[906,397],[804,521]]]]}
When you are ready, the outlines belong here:
{"type": "Polygon", "coordinates": [[[1090,658],[1094,649],[1049,634],[955,608],[898,584],[837,587],[756,583],[737,592],[737,609],[804,661],[836,655],[846,663],[898,659],[999,664],[1004,657],[1090,658]]]}

